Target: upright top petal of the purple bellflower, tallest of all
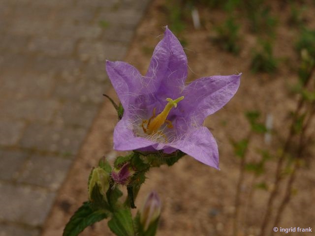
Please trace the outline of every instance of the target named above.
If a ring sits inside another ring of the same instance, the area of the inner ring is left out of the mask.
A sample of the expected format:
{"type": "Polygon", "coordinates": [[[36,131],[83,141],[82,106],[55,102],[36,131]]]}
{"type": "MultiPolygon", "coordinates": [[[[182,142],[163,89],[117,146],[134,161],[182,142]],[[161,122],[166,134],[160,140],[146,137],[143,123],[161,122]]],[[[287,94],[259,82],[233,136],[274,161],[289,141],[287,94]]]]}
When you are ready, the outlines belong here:
{"type": "Polygon", "coordinates": [[[164,38],[156,46],[146,79],[150,92],[177,98],[187,78],[187,57],[175,35],[166,27],[164,38]]]}

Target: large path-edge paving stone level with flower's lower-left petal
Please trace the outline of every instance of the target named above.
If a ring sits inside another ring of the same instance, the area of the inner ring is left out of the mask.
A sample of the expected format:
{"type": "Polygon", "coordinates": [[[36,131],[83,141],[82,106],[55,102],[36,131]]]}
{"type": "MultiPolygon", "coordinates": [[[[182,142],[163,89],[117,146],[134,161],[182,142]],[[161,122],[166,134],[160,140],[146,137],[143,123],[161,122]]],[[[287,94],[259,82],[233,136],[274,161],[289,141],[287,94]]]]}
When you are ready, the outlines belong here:
{"type": "Polygon", "coordinates": [[[81,127],[33,123],[25,130],[21,146],[75,155],[85,138],[86,132],[87,130],[81,127]]]}

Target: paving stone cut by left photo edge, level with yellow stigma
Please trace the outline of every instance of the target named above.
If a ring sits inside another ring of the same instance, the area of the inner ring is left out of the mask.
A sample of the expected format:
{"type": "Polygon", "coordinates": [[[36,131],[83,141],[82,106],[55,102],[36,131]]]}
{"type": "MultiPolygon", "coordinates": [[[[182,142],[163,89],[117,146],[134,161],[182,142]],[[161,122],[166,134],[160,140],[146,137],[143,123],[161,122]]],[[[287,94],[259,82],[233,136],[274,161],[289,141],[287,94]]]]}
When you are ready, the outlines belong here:
{"type": "Polygon", "coordinates": [[[0,118],[48,122],[51,121],[59,104],[56,99],[4,100],[0,101],[0,107],[5,110],[0,113],[0,118]]]}

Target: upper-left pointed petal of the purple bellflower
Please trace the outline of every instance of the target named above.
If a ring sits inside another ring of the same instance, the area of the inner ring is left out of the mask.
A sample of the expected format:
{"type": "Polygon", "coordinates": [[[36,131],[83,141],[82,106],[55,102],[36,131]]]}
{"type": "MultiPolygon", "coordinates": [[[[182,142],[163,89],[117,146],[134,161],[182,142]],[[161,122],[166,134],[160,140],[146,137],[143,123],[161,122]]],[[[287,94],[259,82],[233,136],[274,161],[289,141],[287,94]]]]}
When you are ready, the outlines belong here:
{"type": "Polygon", "coordinates": [[[120,102],[127,109],[129,100],[139,95],[142,75],[132,65],[123,61],[106,61],[106,71],[120,102]]]}

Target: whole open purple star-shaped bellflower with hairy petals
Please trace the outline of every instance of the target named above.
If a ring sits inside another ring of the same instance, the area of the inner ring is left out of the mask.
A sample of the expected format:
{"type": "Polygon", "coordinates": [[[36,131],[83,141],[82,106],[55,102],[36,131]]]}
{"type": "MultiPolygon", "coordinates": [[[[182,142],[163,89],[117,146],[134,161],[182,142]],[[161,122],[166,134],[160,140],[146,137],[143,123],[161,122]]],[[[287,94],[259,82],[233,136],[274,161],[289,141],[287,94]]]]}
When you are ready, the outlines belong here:
{"type": "Polygon", "coordinates": [[[122,61],[106,61],[106,71],[125,109],[115,127],[114,149],[180,149],[219,168],[217,143],[203,122],[233,97],[241,74],[203,77],[186,85],[187,57],[167,27],[145,76],[122,61]]]}

